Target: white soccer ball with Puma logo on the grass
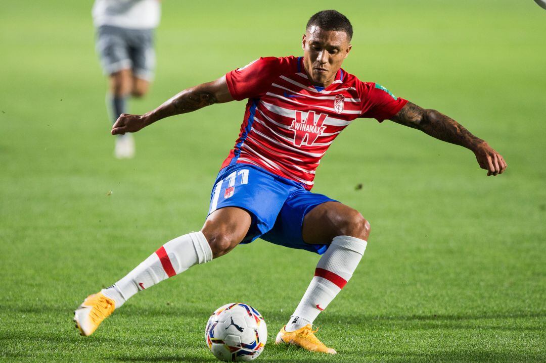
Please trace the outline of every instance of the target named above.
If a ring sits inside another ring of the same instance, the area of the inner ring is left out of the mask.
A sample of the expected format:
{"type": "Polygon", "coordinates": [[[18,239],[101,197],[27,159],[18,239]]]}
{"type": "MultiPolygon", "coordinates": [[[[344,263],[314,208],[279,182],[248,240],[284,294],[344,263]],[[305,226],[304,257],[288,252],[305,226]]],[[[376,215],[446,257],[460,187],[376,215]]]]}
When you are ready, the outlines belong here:
{"type": "Polygon", "coordinates": [[[223,361],[258,358],[268,339],[262,314],[250,305],[232,302],[218,307],[205,328],[205,341],[212,354],[223,361]]]}

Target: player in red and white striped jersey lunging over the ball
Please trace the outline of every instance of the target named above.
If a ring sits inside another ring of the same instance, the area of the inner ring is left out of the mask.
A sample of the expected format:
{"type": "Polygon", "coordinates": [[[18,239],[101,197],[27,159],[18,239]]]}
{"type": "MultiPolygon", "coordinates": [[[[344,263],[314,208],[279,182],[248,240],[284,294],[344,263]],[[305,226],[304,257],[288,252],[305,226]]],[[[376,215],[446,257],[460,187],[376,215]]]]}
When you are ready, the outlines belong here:
{"type": "Polygon", "coordinates": [[[307,23],[302,57],[259,58],[216,81],[185,89],[151,112],[118,118],[113,135],[248,99],[239,138],[212,187],[203,228],[169,241],[114,285],[90,295],[75,311],[81,334],[92,334],[137,292],[259,237],[321,255],[276,343],[335,354],[314,335],[312,324],[351,279],[370,234],[370,224],[357,210],[310,191],[336,136],[357,118],[389,119],[470,149],[488,176],[505,171],[502,156],[452,118],[341,69],[352,35],[345,16],[320,11],[307,23]]]}

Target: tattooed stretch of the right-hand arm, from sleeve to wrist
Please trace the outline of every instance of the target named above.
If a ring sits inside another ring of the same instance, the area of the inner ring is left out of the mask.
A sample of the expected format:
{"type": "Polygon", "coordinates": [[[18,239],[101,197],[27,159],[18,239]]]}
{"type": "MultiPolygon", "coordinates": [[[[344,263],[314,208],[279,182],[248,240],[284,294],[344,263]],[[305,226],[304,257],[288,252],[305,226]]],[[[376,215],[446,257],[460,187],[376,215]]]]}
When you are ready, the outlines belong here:
{"type": "Polygon", "coordinates": [[[425,110],[412,102],[402,107],[392,120],[396,123],[421,130],[438,140],[475,150],[484,141],[471,134],[454,119],[436,110],[425,110]]]}

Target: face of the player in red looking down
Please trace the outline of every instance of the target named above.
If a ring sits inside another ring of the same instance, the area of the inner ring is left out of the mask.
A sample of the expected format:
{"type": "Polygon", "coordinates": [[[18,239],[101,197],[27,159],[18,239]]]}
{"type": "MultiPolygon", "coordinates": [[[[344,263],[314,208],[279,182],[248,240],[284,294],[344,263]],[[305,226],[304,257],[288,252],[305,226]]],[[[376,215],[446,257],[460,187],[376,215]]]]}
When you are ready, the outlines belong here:
{"type": "Polygon", "coordinates": [[[334,82],[343,59],[351,51],[347,33],[323,31],[317,26],[307,29],[301,47],[307,75],[316,86],[328,87],[334,82]]]}

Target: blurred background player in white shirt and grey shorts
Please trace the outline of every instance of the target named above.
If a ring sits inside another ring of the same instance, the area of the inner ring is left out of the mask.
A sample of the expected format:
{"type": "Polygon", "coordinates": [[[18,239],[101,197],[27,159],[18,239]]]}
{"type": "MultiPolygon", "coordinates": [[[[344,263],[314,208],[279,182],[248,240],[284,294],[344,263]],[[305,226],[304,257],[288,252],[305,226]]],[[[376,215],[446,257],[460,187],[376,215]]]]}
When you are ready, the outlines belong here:
{"type": "MultiPolygon", "coordinates": [[[[97,52],[110,83],[106,108],[114,123],[127,112],[129,96],[140,98],[148,92],[156,63],[153,32],[161,8],[159,0],[95,0],[92,15],[97,52]]],[[[134,153],[131,135],[116,137],[116,158],[132,158],[134,153]]]]}

